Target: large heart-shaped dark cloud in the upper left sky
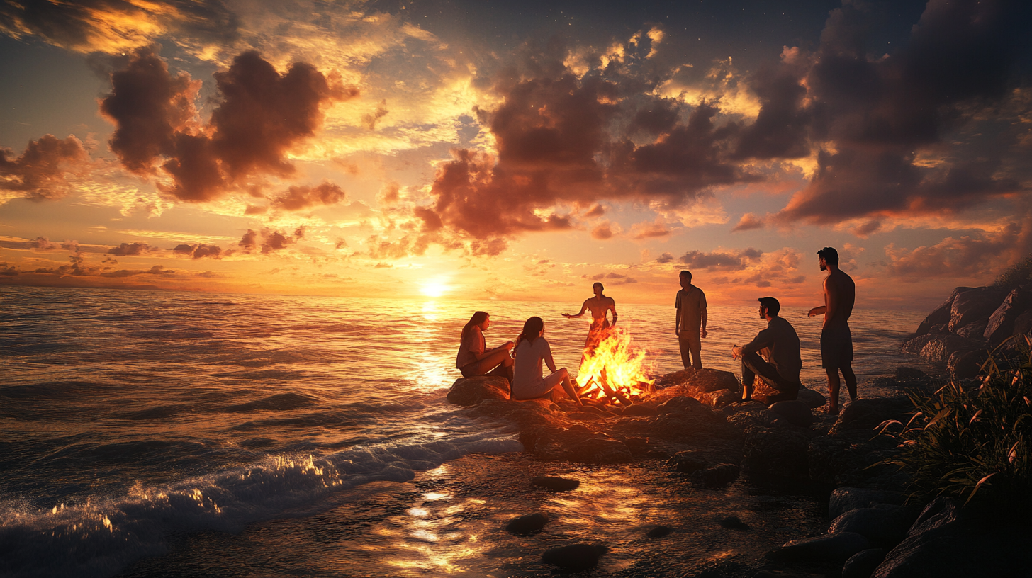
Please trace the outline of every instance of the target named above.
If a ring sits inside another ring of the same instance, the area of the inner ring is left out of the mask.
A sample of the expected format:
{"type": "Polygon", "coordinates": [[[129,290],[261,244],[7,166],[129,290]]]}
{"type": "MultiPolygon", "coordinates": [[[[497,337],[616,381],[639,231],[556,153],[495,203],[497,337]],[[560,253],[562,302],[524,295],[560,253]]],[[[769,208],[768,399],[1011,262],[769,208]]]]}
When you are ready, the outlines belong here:
{"type": "Polygon", "coordinates": [[[291,176],[288,151],[317,133],[327,104],[358,94],[303,62],[281,74],[255,52],[234,58],[215,79],[218,105],[199,126],[193,119],[200,83],[185,72],[171,76],[150,49],[111,73],[111,93],[100,106],[116,125],[110,147],[123,165],[169,176],[159,187],[187,201],[215,199],[250,176],[291,176]]]}

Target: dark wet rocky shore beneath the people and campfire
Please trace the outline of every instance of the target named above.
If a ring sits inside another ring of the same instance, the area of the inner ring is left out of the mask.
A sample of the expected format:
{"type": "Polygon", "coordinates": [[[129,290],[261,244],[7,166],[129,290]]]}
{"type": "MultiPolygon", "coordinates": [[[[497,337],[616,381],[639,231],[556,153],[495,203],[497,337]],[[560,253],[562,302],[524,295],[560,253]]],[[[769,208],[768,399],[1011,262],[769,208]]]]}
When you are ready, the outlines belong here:
{"type": "MultiPolygon", "coordinates": [[[[881,385],[901,392],[931,391],[942,384],[907,367],[882,380],[881,385]]],[[[815,411],[826,402],[812,390],[804,389],[798,400],[768,406],[763,399],[773,391],[759,387],[754,400],[736,402],[740,384],[729,372],[676,372],[656,385],[630,407],[578,408],[569,402],[510,400],[506,380],[473,378],[456,381],[448,399],[478,418],[515,424],[524,451],[543,462],[662,460],[701,488],[720,488],[744,477],[752,484],[827,495],[828,533],[768,552],[757,560],[756,578],[1023,576],[1032,563],[1024,548],[1012,548],[1017,539],[1032,537],[1028,528],[987,527],[948,499],[924,508],[905,504],[907,477],[888,463],[900,451],[899,441],[880,431],[884,422],[905,422],[913,411],[905,395],[859,399],[835,419],[815,411]]],[[[545,483],[536,478],[539,482],[545,483]]],[[[576,480],[552,482],[576,486],[576,480]]],[[[547,514],[528,512],[510,521],[510,532],[534,534],[547,523],[547,514]]],[[[730,518],[720,524],[744,525],[730,518]]],[[[649,532],[656,540],[665,536],[662,525],[649,532]]],[[[604,540],[574,543],[548,550],[542,559],[581,571],[593,568],[606,552],[604,540]]]]}

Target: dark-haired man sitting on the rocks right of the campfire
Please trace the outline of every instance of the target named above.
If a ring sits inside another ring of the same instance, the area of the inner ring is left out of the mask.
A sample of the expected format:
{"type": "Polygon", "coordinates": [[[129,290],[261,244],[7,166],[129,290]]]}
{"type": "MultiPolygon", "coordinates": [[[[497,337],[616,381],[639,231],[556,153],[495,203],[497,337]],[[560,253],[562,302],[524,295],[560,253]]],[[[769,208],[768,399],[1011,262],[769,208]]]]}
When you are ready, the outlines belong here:
{"type": "Polygon", "coordinates": [[[778,317],[781,303],[774,297],[761,297],[760,317],[767,320],[767,328],[743,346],[731,348],[735,359],[742,358],[742,400],[752,399],[755,376],[778,390],[767,398],[769,404],[795,399],[799,395],[799,372],[803,359],[799,352],[799,335],[784,318],[778,317]],[[765,361],[760,354],[767,358],[765,361]]]}

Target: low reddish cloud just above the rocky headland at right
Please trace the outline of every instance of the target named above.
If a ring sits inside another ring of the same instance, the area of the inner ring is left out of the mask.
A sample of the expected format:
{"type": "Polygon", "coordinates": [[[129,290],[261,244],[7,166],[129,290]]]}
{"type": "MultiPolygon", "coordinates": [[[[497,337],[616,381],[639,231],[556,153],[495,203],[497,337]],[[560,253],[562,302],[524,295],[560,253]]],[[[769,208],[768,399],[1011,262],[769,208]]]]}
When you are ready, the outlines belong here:
{"type": "Polygon", "coordinates": [[[1021,226],[1011,223],[996,232],[976,231],[948,236],[931,247],[913,250],[885,247],[889,274],[903,281],[927,278],[982,278],[1001,270],[1018,245],[1021,226]]]}

